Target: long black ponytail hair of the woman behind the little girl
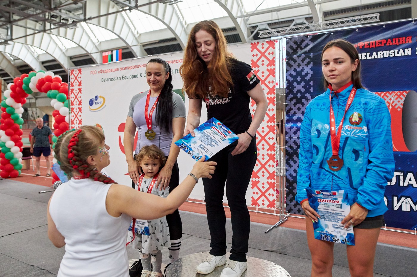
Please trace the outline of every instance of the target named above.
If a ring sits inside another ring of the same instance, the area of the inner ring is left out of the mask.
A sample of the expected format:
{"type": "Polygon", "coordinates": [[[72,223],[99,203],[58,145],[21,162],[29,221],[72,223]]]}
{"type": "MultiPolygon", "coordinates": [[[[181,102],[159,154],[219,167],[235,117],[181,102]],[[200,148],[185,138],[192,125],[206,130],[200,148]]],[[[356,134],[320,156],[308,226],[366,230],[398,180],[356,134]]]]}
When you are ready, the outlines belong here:
{"type": "Polygon", "coordinates": [[[165,74],[169,72],[168,79],[165,80],[165,85],[163,86],[161,93],[159,94],[159,100],[156,107],[156,122],[165,130],[166,133],[170,132],[172,124],[172,74],[171,67],[169,64],[160,58],[150,59],[148,63],[155,62],[162,64],[165,74]]]}

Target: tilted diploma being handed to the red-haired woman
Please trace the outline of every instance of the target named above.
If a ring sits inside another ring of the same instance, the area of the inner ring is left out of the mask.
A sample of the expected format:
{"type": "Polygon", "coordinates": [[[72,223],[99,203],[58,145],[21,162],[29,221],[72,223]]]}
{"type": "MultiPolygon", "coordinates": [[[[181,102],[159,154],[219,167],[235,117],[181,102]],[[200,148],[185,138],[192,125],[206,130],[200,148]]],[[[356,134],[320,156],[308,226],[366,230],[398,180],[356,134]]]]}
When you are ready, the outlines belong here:
{"type": "Polygon", "coordinates": [[[206,156],[206,161],[229,144],[239,139],[229,128],[214,117],[194,129],[196,136],[188,134],[175,144],[198,161],[206,156]]]}

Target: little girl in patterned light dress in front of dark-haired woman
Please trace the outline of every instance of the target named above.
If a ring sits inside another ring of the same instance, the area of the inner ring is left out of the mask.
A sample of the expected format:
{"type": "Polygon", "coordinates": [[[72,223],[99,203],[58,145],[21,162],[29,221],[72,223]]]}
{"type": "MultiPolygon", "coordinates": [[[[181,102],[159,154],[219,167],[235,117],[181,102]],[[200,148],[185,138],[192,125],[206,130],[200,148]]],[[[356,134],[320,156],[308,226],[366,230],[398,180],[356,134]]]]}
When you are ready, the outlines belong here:
{"type": "MultiPolygon", "coordinates": [[[[159,190],[154,186],[158,178],[159,170],[164,166],[165,161],[164,153],[156,145],[143,146],[138,155],[136,155],[136,163],[142,168],[143,172],[139,177],[138,184],[136,184],[136,189],[166,198],[169,194],[169,187],[166,187],[164,190],[159,190]]],[[[141,249],[140,257],[143,266],[141,277],[161,277],[161,248],[163,246],[169,246],[170,241],[166,217],[164,216],[154,220],[136,219],[134,236],[132,227],[133,220],[129,228],[128,242],[133,241],[133,249],[141,249]],[[146,223],[148,226],[146,226],[146,223]]]]}

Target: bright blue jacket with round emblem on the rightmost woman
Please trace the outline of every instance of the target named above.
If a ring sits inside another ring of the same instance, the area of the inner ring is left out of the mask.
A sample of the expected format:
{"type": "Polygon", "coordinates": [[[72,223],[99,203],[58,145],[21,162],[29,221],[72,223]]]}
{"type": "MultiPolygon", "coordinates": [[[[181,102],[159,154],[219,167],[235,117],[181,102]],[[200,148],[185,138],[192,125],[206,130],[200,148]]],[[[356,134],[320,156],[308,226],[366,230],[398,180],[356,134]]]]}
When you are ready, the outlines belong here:
{"type": "MultiPolygon", "coordinates": [[[[353,85],[332,96],[336,128],[344,114],[353,85]]],[[[307,198],[305,188],[344,190],[349,205],[357,202],[369,210],[367,217],[387,211],[384,191],[394,174],[391,116],[384,99],[357,89],[347,111],[339,146],[344,165],[331,171],[330,89],[311,100],[300,130],[296,201],[307,198]]]]}

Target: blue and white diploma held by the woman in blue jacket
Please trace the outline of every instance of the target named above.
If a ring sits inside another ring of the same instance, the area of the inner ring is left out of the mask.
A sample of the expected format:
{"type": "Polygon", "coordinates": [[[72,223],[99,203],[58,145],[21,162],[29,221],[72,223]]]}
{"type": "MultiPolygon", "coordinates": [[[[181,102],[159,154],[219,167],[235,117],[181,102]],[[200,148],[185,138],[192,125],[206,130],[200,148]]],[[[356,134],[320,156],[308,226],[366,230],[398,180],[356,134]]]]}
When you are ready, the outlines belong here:
{"type": "Polygon", "coordinates": [[[350,212],[350,206],[344,202],[344,190],[313,190],[306,188],[310,207],[319,215],[319,221],[313,223],[314,237],[317,240],[355,245],[352,225],[344,229],[340,225],[350,212]]]}

